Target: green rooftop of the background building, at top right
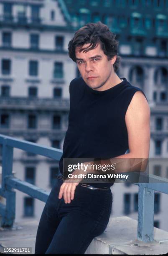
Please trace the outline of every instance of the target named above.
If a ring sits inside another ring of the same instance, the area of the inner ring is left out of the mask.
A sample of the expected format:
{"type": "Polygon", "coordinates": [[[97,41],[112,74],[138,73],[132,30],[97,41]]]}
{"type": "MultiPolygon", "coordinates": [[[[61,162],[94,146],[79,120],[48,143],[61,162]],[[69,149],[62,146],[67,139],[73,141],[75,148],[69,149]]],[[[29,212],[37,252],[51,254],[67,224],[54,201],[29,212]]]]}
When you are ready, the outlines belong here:
{"type": "Polygon", "coordinates": [[[157,46],[157,56],[168,56],[168,1],[64,0],[64,3],[75,29],[100,20],[116,33],[120,43],[132,45],[130,55],[148,55],[145,46],[150,45],[157,46]]]}

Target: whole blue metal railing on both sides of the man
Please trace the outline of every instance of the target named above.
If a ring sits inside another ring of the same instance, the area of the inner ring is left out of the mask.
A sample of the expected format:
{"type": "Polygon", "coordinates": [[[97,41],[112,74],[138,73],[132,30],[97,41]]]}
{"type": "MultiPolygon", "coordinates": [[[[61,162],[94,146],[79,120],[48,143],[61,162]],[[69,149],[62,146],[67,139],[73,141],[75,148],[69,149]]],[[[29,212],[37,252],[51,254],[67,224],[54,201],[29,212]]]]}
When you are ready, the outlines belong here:
{"type": "MultiPolygon", "coordinates": [[[[13,189],[18,189],[43,202],[47,201],[49,195],[49,192],[13,177],[13,148],[55,160],[61,158],[62,150],[4,135],[0,135],[0,145],[3,146],[0,196],[6,198],[6,205],[0,203],[1,225],[12,226],[15,220],[15,192],[13,189]]],[[[137,239],[145,242],[153,241],[154,191],[168,194],[168,179],[153,174],[149,175],[149,179],[151,183],[136,183],[139,186],[137,239]]]]}

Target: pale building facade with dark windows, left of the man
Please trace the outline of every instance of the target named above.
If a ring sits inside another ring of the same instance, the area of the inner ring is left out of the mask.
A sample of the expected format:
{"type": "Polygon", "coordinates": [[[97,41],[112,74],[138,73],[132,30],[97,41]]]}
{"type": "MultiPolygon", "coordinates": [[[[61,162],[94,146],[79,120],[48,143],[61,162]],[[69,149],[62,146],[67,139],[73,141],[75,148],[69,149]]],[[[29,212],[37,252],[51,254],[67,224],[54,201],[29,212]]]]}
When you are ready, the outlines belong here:
{"type": "MultiPolygon", "coordinates": [[[[76,64],[67,53],[72,29],[59,1],[0,2],[0,133],[62,148],[69,83],[76,64]]],[[[58,161],[14,150],[19,179],[51,189],[58,161]]],[[[16,191],[16,221],[39,218],[43,202],[16,191]]]]}

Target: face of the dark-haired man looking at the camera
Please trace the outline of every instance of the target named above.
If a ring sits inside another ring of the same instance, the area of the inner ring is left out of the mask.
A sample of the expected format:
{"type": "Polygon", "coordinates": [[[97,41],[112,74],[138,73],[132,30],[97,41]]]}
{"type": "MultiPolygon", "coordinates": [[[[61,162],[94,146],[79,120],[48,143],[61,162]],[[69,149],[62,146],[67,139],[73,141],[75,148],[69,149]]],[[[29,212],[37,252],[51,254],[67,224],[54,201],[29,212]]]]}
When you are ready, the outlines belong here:
{"type": "MultiPolygon", "coordinates": [[[[82,47],[88,47],[84,44],[82,47]]],[[[104,84],[108,84],[110,77],[114,73],[113,64],[116,56],[112,60],[107,59],[107,55],[101,49],[100,44],[87,52],[81,51],[81,47],[76,47],[76,63],[84,82],[92,89],[98,89],[104,84]]]]}

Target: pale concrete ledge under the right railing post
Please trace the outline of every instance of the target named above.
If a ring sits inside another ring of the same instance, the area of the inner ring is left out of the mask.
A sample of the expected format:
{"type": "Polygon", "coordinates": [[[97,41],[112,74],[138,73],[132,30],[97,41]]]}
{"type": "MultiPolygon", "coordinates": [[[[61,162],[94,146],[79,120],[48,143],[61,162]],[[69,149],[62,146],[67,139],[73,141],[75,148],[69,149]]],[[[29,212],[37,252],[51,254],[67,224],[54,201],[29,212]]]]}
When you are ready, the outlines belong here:
{"type": "Polygon", "coordinates": [[[154,228],[154,241],[137,240],[137,220],[128,217],[110,218],[107,229],[94,238],[85,254],[164,254],[168,253],[168,232],[154,228]]]}

